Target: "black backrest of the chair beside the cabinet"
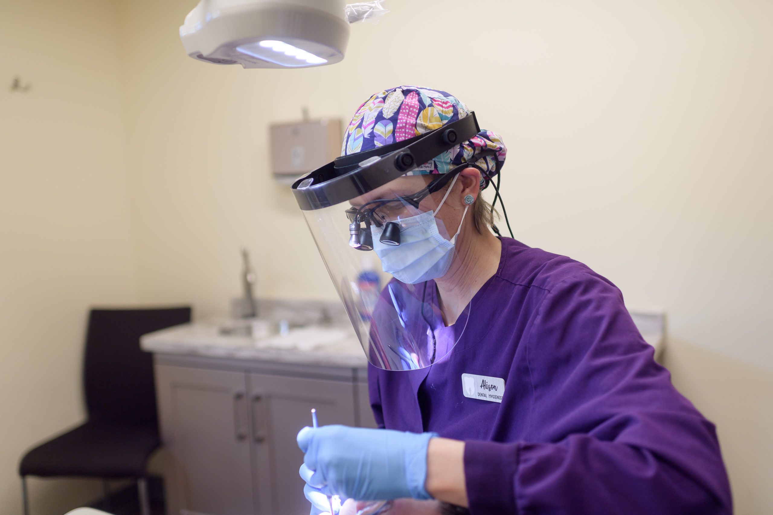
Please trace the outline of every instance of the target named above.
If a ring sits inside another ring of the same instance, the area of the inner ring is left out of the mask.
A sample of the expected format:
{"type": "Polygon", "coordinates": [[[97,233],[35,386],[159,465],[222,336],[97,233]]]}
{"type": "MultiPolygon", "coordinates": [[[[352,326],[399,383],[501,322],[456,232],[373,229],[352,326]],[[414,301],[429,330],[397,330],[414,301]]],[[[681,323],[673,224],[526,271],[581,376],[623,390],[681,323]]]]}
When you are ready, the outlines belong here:
{"type": "Polygon", "coordinates": [[[140,337],[190,319],[190,307],[91,310],[83,370],[91,421],[157,425],[153,357],[140,337]]]}

